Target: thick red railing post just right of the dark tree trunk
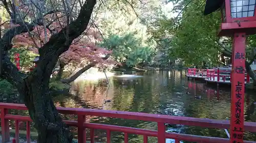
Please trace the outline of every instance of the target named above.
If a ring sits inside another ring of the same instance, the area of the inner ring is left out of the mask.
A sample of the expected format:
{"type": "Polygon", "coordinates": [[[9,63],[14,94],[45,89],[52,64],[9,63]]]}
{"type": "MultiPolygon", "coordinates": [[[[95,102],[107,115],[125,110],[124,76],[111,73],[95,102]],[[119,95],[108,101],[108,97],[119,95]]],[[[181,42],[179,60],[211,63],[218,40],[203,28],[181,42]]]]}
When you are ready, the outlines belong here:
{"type": "Polygon", "coordinates": [[[86,143],[86,129],[83,127],[86,116],[78,115],[78,143],[86,143]]]}

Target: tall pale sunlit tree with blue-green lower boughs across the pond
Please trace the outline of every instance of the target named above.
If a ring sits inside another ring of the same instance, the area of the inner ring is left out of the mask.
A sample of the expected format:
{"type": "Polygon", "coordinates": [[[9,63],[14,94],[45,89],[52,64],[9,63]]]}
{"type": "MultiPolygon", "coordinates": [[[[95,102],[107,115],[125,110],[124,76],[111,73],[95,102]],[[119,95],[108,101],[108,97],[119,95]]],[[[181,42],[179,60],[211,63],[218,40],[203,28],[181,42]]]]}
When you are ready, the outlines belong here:
{"type": "Polygon", "coordinates": [[[104,36],[100,45],[114,48],[114,60],[126,66],[152,64],[158,46],[150,28],[162,15],[162,4],[155,0],[146,1],[146,5],[134,1],[131,8],[128,2],[110,4],[113,11],[105,12],[99,23],[104,36]]]}

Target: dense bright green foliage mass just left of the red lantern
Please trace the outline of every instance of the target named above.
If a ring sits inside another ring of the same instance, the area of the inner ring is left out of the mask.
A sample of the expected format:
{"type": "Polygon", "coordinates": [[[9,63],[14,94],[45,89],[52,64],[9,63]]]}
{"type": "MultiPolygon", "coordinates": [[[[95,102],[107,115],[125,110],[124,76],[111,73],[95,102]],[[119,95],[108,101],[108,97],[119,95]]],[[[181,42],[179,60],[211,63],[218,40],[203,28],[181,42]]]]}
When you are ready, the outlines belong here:
{"type": "Polygon", "coordinates": [[[203,1],[192,2],[183,12],[179,27],[172,40],[171,55],[182,58],[188,65],[213,64],[218,60],[216,36],[220,24],[220,13],[202,14],[203,1]],[[199,9],[198,9],[199,8],[199,9]]]}

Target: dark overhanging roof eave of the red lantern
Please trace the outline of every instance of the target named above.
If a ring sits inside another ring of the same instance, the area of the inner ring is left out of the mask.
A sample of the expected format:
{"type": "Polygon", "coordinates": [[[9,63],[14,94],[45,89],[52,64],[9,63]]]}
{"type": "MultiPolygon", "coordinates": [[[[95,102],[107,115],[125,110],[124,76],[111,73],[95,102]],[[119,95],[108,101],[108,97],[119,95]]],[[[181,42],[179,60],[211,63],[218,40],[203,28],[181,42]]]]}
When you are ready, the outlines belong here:
{"type": "Polygon", "coordinates": [[[212,12],[219,10],[223,4],[224,0],[206,0],[204,7],[204,15],[208,15],[212,12]]]}

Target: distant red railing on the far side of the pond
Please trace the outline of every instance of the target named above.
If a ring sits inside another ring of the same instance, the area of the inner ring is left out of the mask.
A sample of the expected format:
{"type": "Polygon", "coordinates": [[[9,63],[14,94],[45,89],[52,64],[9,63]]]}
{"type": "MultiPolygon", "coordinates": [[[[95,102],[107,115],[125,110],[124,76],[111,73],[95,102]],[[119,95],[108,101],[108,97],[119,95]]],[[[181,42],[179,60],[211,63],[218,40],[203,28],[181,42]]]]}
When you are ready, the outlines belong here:
{"type": "MultiPolygon", "coordinates": [[[[217,81],[220,81],[222,78],[223,81],[226,81],[226,77],[230,78],[231,81],[231,70],[220,70],[220,69],[188,69],[187,71],[188,76],[193,77],[201,77],[201,78],[207,78],[207,79],[213,79],[215,80],[217,78],[217,81]],[[221,74],[221,73],[228,73],[228,74],[221,74]]],[[[246,77],[246,83],[250,82],[250,76],[249,74],[245,73],[246,77]]]]}

